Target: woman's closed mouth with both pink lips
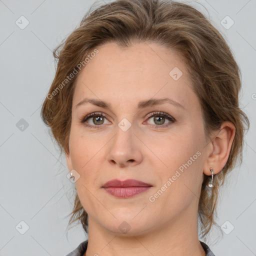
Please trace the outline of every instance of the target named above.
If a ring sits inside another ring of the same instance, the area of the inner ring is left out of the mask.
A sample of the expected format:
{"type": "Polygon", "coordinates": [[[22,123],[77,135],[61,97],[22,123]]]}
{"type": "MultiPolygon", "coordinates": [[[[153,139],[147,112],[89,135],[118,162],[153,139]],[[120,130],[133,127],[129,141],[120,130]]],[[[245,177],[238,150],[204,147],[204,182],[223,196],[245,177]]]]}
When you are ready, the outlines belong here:
{"type": "Polygon", "coordinates": [[[112,179],[107,181],[102,187],[107,193],[115,197],[128,198],[148,190],[152,185],[135,179],[123,181],[112,179]]]}

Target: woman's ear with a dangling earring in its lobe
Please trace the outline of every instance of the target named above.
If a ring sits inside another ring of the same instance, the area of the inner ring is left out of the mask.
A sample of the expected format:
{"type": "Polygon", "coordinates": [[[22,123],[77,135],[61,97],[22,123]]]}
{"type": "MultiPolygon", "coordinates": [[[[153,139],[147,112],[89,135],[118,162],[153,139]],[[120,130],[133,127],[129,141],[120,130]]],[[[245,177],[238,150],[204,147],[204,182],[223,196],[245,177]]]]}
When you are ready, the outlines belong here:
{"type": "Polygon", "coordinates": [[[209,170],[210,167],[212,167],[214,174],[217,174],[225,166],[234,140],[234,135],[234,125],[229,121],[224,121],[209,143],[208,156],[203,165],[204,174],[211,174],[209,170]]]}

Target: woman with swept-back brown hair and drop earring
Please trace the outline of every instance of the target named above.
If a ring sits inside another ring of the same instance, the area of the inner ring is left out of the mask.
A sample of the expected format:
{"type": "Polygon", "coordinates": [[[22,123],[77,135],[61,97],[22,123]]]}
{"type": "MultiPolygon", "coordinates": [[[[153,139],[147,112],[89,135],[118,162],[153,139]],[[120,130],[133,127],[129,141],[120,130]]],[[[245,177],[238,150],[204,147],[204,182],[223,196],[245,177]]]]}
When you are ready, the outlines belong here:
{"type": "Polygon", "coordinates": [[[75,182],[69,223],[88,233],[68,255],[214,255],[198,235],[249,124],[220,33],[183,3],[117,0],[54,56],[41,115],[75,182]]]}

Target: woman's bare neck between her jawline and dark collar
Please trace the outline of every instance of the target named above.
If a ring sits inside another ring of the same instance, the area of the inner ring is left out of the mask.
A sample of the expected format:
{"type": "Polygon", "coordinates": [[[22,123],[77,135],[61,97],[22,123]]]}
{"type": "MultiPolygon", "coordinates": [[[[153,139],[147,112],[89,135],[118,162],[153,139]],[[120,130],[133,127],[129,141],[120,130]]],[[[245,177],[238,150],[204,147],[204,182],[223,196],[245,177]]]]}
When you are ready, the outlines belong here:
{"type": "Polygon", "coordinates": [[[118,234],[89,218],[88,246],[84,256],[200,255],[205,256],[197,234],[197,215],[181,212],[162,226],[136,235],[118,234]]]}

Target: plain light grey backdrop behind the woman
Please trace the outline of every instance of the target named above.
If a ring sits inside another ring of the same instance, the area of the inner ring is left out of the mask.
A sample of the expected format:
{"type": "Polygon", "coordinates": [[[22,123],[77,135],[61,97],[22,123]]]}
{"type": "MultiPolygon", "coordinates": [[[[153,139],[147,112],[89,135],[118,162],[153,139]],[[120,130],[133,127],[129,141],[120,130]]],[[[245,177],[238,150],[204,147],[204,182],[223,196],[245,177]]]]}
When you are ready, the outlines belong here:
{"type": "MultiPolygon", "coordinates": [[[[86,239],[81,226],[67,232],[74,184],[66,178],[65,159],[39,113],[54,76],[52,49],[78,26],[93,2],[0,0],[1,256],[66,255],[86,239]],[[29,21],[24,29],[15,23],[21,15],[29,21]],[[19,126],[21,118],[27,127],[19,126]],[[25,227],[21,220],[29,226],[24,234],[15,228],[25,227]]],[[[243,163],[228,175],[218,204],[217,223],[229,221],[223,230],[234,229],[222,239],[212,230],[206,242],[216,256],[256,255],[256,0],[187,2],[206,14],[230,45],[242,72],[241,107],[251,124],[243,163]],[[221,25],[226,15],[234,21],[229,29],[221,25]]]]}

